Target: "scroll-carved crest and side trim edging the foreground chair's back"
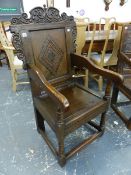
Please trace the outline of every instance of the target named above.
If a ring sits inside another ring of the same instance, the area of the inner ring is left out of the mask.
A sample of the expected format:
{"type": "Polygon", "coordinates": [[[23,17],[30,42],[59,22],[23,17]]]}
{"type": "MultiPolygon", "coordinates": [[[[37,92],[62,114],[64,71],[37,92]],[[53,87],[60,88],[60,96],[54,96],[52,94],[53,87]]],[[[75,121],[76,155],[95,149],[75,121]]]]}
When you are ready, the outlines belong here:
{"type": "MultiPolygon", "coordinates": [[[[72,43],[73,43],[73,51],[76,50],[76,24],[74,22],[73,16],[68,16],[66,13],[62,13],[60,15],[59,10],[54,7],[46,8],[44,7],[36,7],[30,11],[30,18],[26,13],[23,13],[20,17],[15,17],[11,20],[11,25],[19,25],[19,24],[31,24],[31,23],[53,23],[53,22],[66,22],[67,25],[70,25],[72,28],[72,43]]],[[[18,33],[14,33],[13,35],[13,45],[17,51],[18,58],[25,63],[25,56],[22,52],[22,42],[21,37],[18,33]]]]}

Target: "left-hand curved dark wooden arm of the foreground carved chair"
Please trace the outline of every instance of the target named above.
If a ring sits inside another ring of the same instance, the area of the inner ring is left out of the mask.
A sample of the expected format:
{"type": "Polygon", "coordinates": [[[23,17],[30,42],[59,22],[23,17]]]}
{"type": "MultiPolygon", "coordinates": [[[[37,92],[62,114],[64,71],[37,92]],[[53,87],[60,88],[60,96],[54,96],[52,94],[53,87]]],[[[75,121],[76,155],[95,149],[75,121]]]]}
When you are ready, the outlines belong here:
{"type": "Polygon", "coordinates": [[[29,68],[29,75],[40,85],[40,87],[42,87],[47,92],[47,94],[54,101],[56,101],[56,103],[59,104],[61,109],[64,110],[69,107],[67,98],[46,80],[43,73],[36,66],[31,66],[31,68],[29,68]]]}

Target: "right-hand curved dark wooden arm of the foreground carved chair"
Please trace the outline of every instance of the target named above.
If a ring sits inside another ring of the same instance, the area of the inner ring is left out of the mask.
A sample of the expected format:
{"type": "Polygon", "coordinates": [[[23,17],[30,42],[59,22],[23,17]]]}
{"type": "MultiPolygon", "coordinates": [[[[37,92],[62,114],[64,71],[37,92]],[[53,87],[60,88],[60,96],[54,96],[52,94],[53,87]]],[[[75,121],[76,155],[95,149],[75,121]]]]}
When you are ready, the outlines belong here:
{"type": "Polygon", "coordinates": [[[124,78],[122,75],[113,72],[108,69],[100,68],[96,66],[91,60],[89,60],[87,57],[77,55],[77,54],[71,54],[71,64],[72,66],[77,66],[78,68],[84,68],[88,69],[92,73],[99,74],[107,79],[110,79],[117,83],[122,83],[124,78]]]}

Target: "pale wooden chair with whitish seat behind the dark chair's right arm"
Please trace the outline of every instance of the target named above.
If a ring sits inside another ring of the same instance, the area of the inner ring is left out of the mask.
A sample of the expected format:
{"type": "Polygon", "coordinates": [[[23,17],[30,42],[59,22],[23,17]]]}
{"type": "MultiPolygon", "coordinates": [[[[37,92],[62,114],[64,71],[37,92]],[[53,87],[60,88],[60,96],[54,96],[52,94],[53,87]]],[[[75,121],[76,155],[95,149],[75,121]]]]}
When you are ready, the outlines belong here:
{"type": "MultiPolygon", "coordinates": [[[[91,61],[93,61],[94,64],[96,64],[99,67],[105,67],[107,69],[109,69],[112,66],[116,66],[117,64],[117,53],[118,53],[118,49],[119,49],[119,43],[120,43],[120,37],[121,37],[121,30],[122,27],[119,26],[118,30],[112,35],[112,31],[109,29],[105,30],[105,32],[103,33],[103,35],[99,36],[100,40],[104,40],[104,45],[103,45],[103,49],[101,51],[101,53],[98,52],[92,52],[92,47],[95,41],[95,37],[97,38],[97,34],[96,34],[96,30],[93,30],[92,36],[91,36],[91,43],[90,43],[90,47],[88,50],[88,58],[91,59],[91,61]],[[114,36],[115,35],[115,36],[114,36]],[[113,42],[113,48],[112,51],[109,53],[107,52],[107,47],[109,44],[109,41],[112,40],[113,42]]],[[[94,26],[95,28],[95,26],[94,26]]],[[[100,33],[99,33],[100,35],[100,33]]],[[[98,40],[99,40],[98,39],[98,40]]],[[[97,74],[91,74],[92,78],[95,79],[98,83],[98,88],[100,91],[102,91],[103,89],[103,77],[99,76],[97,74]]]]}

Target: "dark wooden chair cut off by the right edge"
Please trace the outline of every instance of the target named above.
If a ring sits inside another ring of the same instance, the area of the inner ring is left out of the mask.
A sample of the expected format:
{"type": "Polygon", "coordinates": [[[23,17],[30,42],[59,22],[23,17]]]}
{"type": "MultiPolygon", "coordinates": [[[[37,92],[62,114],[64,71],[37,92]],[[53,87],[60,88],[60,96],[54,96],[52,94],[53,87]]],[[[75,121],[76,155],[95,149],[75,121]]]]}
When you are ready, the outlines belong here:
{"type": "MultiPolygon", "coordinates": [[[[118,51],[118,64],[117,72],[122,74],[124,81],[122,84],[115,84],[113,87],[113,94],[111,100],[111,106],[118,116],[125,123],[126,127],[131,130],[131,115],[122,110],[122,106],[125,107],[131,104],[131,25],[123,25],[122,36],[120,41],[120,48],[118,51]],[[123,101],[118,98],[121,92],[127,100],[123,101]],[[129,115],[129,114],[128,114],[129,115]]],[[[131,111],[131,110],[130,110],[131,111]]]]}

